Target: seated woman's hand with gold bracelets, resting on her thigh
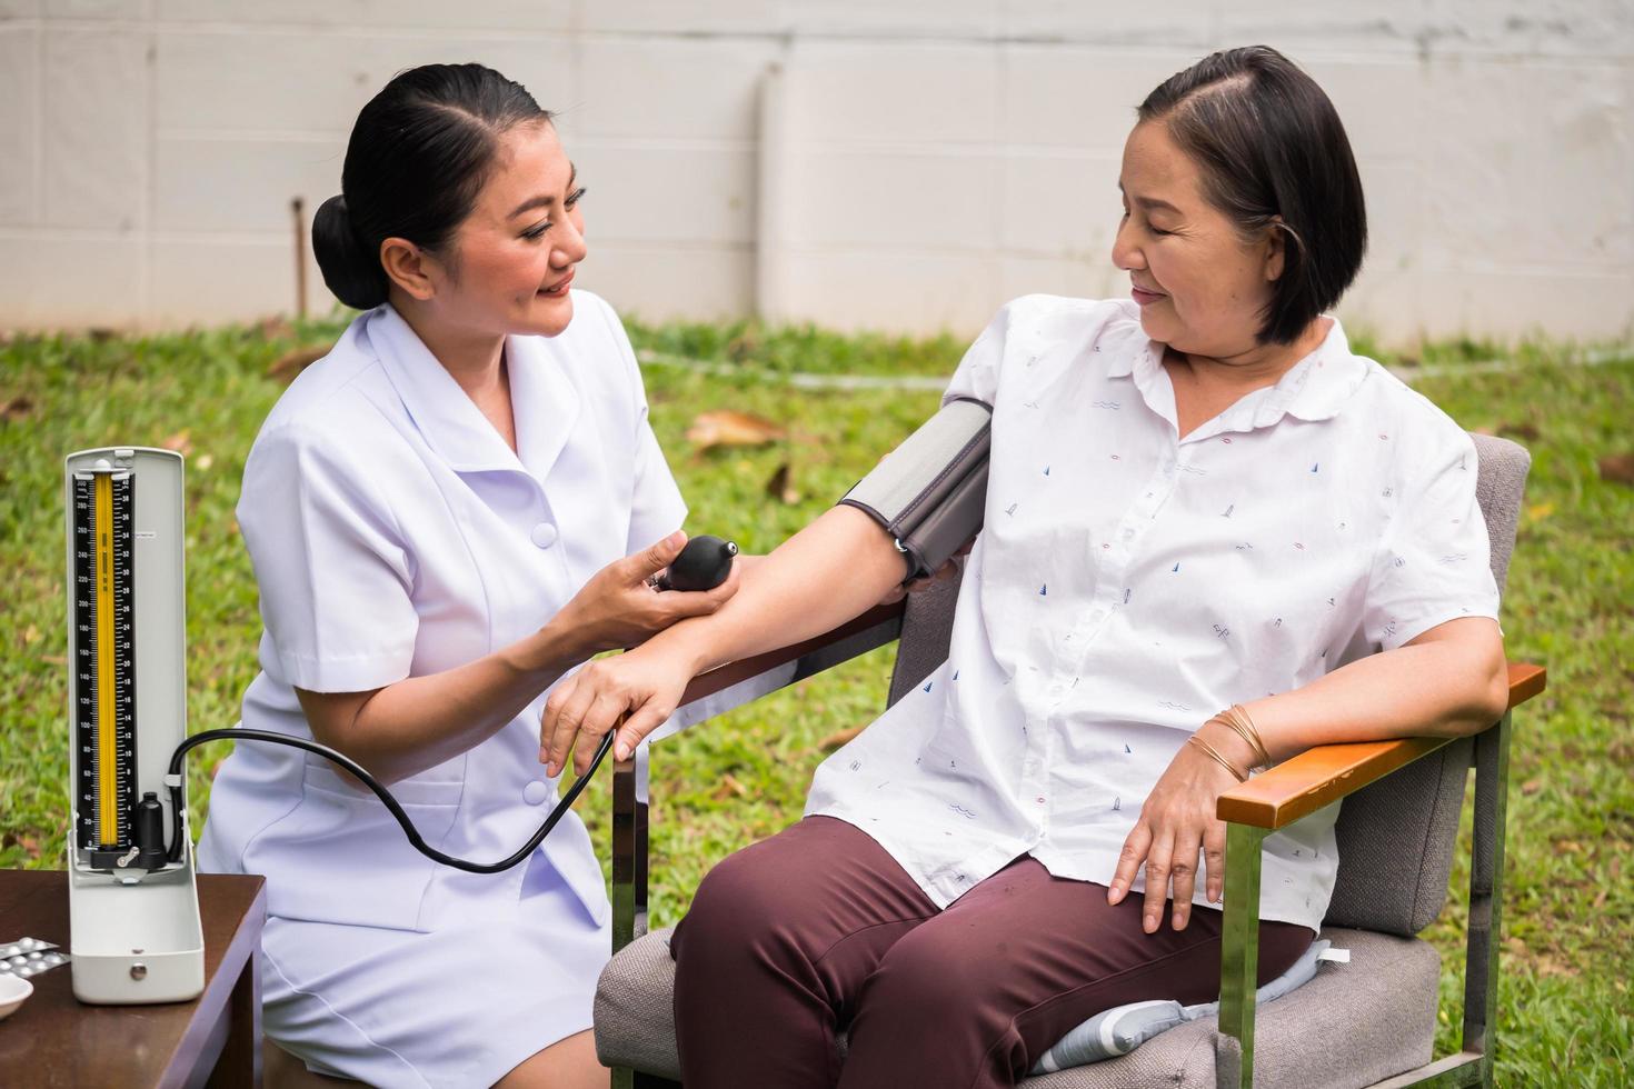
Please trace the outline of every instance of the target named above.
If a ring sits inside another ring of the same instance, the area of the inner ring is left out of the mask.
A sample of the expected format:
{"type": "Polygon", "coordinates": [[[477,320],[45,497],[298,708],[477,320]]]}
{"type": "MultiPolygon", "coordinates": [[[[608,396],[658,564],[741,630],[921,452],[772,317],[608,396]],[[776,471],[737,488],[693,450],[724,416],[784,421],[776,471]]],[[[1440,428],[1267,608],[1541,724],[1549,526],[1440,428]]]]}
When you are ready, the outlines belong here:
{"type": "MultiPolygon", "coordinates": [[[[1253,754],[1247,741],[1229,727],[1208,722],[1198,736],[1212,745],[1237,767],[1248,767],[1253,754]]],[[[1214,816],[1219,797],[1237,785],[1237,777],[1221,767],[1194,745],[1181,745],[1163,776],[1152,787],[1141,820],[1124,839],[1118,869],[1106,891],[1108,903],[1121,903],[1145,862],[1145,911],[1142,929],[1157,934],[1163,926],[1163,901],[1173,883],[1176,931],[1191,921],[1191,895],[1196,891],[1198,854],[1203,856],[1211,903],[1221,901],[1226,885],[1226,821],[1214,816]]]]}

